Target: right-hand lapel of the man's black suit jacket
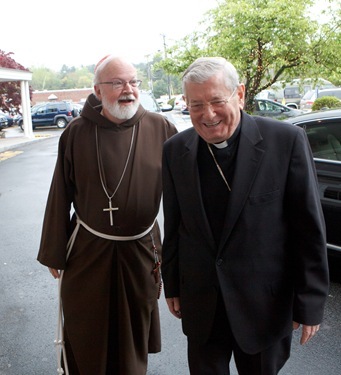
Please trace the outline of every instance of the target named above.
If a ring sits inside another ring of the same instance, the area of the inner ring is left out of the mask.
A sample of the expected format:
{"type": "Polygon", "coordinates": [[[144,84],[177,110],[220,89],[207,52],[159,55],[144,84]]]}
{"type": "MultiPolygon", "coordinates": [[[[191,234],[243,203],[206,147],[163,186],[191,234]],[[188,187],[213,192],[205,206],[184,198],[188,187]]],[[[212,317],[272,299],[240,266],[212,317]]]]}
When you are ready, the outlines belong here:
{"type": "Polygon", "coordinates": [[[219,244],[219,251],[223,249],[248,199],[253,181],[258,173],[264,155],[264,150],[256,146],[257,143],[262,140],[262,136],[254,119],[243,113],[241,125],[235,174],[219,244]]]}

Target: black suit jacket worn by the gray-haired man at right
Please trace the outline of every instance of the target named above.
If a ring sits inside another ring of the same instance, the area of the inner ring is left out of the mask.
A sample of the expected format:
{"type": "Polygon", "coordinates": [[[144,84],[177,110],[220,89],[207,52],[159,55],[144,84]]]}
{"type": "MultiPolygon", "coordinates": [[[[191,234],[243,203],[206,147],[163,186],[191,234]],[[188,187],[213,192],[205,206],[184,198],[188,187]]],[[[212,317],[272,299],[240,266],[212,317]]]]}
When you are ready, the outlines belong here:
{"type": "Polygon", "coordinates": [[[164,145],[166,297],[180,297],[186,335],[207,340],[221,290],[234,336],[254,354],[322,320],[325,225],[305,132],[242,112],[223,235],[215,244],[201,197],[194,128],[164,145]]]}

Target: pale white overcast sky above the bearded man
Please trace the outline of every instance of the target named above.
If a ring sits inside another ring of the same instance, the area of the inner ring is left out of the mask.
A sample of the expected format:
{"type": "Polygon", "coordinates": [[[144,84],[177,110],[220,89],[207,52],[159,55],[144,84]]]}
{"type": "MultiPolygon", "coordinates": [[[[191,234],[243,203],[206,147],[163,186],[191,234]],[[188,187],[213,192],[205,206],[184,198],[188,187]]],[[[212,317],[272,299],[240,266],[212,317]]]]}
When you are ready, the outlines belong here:
{"type": "Polygon", "coordinates": [[[25,68],[59,71],[108,54],[132,63],[192,33],[217,0],[17,0],[1,5],[0,49],[25,68]]]}

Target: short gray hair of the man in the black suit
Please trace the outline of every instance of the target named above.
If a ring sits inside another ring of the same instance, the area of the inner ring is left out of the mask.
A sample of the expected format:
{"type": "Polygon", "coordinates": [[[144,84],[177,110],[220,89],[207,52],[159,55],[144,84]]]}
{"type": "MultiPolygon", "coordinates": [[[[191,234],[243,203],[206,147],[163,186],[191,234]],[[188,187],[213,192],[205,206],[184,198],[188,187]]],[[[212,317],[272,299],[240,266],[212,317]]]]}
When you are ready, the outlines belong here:
{"type": "Polygon", "coordinates": [[[200,57],[196,59],[182,76],[182,90],[186,96],[186,83],[203,83],[209,78],[223,73],[226,88],[233,91],[239,85],[236,68],[223,57],[200,57]]]}

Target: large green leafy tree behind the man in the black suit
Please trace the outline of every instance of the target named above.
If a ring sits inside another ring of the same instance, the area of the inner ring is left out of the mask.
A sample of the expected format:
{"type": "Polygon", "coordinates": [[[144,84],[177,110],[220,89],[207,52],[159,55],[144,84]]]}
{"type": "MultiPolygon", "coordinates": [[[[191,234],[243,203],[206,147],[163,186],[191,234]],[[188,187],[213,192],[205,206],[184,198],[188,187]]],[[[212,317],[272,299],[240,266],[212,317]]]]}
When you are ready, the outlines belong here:
{"type": "Polygon", "coordinates": [[[312,74],[317,78],[321,71],[332,72],[332,61],[335,65],[340,54],[340,17],[321,26],[309,17],[313,3],[223,0],[206,15],[206,29],[186,36],[167,51],[169,58],[160,65],[166,71],[183,72],[197,57],[225,57],[245,83],[246,110],[251,111],[254,96],[279,79],[312,74]]]}

